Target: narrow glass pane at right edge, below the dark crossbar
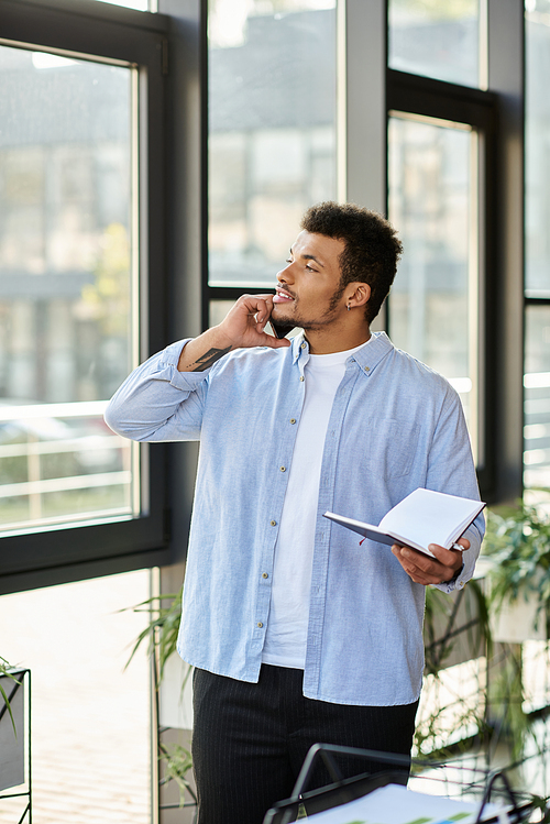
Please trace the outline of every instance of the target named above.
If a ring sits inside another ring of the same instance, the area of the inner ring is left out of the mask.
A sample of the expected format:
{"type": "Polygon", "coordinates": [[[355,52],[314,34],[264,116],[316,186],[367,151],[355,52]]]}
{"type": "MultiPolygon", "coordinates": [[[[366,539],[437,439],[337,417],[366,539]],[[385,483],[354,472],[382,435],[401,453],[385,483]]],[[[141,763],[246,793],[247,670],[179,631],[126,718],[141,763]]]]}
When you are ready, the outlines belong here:
{"type": "MultiPolygon", "coordinates": [[[[524,484],[526,490],[542,487],[550,493],[549,306],[527,307],[525,332],[524,484]]],[[[542,497],[550,501],[548,494],[542,497]]]]}

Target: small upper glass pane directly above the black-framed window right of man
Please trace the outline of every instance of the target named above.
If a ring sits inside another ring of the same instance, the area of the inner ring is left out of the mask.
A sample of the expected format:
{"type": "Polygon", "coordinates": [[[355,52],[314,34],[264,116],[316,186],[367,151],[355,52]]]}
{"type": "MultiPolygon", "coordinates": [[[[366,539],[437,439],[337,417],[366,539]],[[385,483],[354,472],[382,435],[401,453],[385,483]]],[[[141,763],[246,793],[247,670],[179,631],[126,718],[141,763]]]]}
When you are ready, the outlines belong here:
{"type": "Polygon", "coordinates": [[[480,0],[389,0],[391,68],[480,85],[480,0]]]}

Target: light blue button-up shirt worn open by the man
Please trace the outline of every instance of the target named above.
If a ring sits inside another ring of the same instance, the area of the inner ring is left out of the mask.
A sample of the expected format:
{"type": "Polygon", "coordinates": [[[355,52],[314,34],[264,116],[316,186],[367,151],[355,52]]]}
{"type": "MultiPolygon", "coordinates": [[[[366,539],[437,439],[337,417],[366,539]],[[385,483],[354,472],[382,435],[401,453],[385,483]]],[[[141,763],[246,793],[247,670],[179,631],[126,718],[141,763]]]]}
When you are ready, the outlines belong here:
{"type": "MultiPolygon", "coordinates": [[[[275,542],[305,394],[309,349],[241,349],[178,372],[179,341],[135,370],[106,420],[141,441],[200,440],[178,650],[191,664],[257,681],[275,542]]],[[[330,523],[378,524],[424,486],[477,498],[460,398],[384,332],[346,361],[322,457],[304,694],[341,704],[408,704],[420,694],[425,587],[387,546],[330,523]]],[[[452,584],[472,576],[484,530],[452,584]]]]}

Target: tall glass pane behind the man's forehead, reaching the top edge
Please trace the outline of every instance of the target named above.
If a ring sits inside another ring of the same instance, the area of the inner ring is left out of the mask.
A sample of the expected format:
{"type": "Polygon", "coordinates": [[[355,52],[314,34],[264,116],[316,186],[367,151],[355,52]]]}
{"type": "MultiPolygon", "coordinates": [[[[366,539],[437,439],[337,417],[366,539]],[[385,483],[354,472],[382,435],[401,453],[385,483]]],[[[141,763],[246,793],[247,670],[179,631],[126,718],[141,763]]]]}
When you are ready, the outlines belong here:
{"type": "Polygon", "coordinates": [[[273,286],[304,211],[336,196],[334,7],[209,2],[212,286],[273,286]]]}

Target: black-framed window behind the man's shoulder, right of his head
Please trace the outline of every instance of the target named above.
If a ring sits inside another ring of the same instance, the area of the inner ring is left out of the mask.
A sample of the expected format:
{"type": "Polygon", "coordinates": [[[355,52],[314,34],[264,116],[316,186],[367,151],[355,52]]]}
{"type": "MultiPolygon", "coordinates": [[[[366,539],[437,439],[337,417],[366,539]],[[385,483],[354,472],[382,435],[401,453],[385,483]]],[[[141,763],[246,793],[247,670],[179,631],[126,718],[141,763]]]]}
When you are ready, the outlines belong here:
{"type": "Polygon", "coordinates": [[[491,230],[495,99],[388,73],[388,216],[404,243],[388,299],[396,345],[458,391],[482,493],[493,483],[491,230]]]}

